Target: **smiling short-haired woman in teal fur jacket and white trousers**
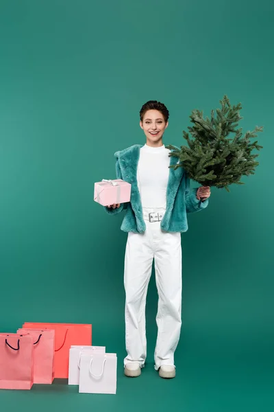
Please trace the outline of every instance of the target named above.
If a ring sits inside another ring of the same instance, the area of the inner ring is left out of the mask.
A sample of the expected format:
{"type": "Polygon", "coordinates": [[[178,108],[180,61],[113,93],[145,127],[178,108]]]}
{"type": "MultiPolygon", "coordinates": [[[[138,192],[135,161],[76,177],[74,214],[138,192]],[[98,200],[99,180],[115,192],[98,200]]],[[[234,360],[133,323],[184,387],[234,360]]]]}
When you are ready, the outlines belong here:
{"type": "Polygon", "coordinates": [[[140,110],[140,127],[146,144],[116,152],[116,176],[132,185],[129,203],[108,205],[109,214],[126,209],[121,229],[128,232],[125,250],[125,375],[139,376],[145,365],[147,341],[145,304],[151,266],[155,261],[158,288],[158,337],[155,369],[162,378],[175,377],[174,352],[181,330],[182,248],[181,233],[188,229],[186,214],[208,205],[210,187],[190,190],[182,167],[169,157],[163,144],[169,111],[155,100],[140,110]]]}

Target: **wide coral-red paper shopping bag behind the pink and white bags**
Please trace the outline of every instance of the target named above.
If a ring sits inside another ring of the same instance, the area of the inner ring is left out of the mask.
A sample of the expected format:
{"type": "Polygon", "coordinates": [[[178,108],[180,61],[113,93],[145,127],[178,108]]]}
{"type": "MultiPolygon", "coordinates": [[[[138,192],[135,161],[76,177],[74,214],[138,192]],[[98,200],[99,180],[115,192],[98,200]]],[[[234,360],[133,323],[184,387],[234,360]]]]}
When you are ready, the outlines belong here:
{"type": "Polygon", "coordinates": [[[92,325],[77,323],[24,323],[27,329],[55,330],[54,377],[69,378],[71,345],[90,345],[92,325]]]}

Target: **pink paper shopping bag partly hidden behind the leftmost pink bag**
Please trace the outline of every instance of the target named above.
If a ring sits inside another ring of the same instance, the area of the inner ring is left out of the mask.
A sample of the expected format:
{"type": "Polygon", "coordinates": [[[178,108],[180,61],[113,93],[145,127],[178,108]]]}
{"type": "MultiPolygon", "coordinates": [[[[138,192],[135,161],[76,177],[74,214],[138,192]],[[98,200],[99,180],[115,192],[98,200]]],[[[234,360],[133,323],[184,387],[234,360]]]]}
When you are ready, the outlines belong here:
{"type": "Polygon", "coordinates": [[[54,379],[55,331],[18,329],[17,333],[34,338],[34,383],[51,384],[54,379]]]}

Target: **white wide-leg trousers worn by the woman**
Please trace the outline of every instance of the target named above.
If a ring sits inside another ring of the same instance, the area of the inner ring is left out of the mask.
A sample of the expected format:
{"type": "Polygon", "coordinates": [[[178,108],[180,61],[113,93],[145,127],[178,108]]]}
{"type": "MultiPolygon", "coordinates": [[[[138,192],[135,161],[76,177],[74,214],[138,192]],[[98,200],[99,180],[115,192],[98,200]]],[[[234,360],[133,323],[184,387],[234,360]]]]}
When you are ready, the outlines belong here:
{"type": "Polygon", "coordinates": [[[155,369],[174,365],[174,352],[182,324],[182,247],[181,234],[162,231],[160,222],[146,222],[145,233],[128,233],[125,250],[125,341],[131,362],[145,365],[147,339],[145,305],[151,268],[155,262],[158,289],[158,336],[155,369]]]}

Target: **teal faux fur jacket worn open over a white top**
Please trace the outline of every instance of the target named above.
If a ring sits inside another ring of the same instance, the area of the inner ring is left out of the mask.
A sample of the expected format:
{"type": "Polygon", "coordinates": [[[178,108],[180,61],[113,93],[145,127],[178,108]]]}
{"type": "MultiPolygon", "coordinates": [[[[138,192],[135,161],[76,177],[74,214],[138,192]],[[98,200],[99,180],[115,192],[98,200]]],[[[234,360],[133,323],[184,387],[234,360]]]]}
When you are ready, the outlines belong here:
{"type": "MultiPolygon", "coordinates": [[[[120,152],[116,152],[116,178],[123,179],[132,185],[130,202],[121,203],[116,209],[105,207],[108,214],[116,215],[123,209],[126,214],[121,230],[125,232],[143,233],[146,229],[142,216],[142,204],[137,184],[137,166],[142,145],[136,144],[120,152]]],[[[170,165],[179,161],[171,157],[170,165]]],[[[185,232],[188,230],[186,214],[199,211],[208,206],[208,199],[200,203],[196,197],[197,189],[190,189],[190,179],[184,168],[169,169],[169,181],[166,189],[166,211],[160,225],[164,231],[185,232]]]]}

